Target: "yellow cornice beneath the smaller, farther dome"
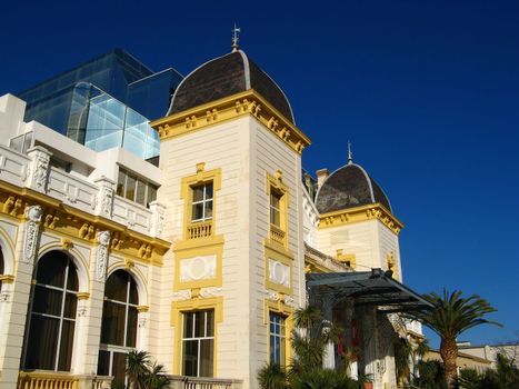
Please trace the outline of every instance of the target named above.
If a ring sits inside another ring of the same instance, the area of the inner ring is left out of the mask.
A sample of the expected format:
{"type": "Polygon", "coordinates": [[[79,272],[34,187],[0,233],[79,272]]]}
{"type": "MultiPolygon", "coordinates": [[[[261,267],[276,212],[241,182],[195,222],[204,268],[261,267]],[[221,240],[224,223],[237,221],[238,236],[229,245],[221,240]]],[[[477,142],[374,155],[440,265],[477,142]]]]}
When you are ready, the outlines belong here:
{"type": "Polygon", "coordinates": [[[353,225],[367,220],[379,220],[395,235],[399,235],[403,225],[381,203],[349,208],[343,211],[321,215],[319,229],[353,225]]]}

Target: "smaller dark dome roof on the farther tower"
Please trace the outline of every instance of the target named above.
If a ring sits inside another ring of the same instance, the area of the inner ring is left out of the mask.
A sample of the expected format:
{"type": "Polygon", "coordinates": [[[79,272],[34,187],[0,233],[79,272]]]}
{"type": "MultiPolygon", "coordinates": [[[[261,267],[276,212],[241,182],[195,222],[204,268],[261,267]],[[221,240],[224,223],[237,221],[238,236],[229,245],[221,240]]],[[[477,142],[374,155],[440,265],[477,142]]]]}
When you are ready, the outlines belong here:
{"type": "Polygon", "coordinates": [[[356,163],[333,171],[319,188],[316,208],[320,213],[380,202],[390,212],[391,206],[383,190],[356,163]]]}

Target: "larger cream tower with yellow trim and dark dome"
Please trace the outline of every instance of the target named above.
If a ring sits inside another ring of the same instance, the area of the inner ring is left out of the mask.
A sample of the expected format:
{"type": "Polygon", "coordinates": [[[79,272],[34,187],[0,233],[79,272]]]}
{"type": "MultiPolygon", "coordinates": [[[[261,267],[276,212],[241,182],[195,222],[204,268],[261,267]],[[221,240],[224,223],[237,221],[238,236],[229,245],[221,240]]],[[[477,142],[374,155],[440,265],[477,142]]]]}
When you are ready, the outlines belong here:
{"type": "Polygon", "coordinates": [[[238,49],[186,77],[151,126],[172,241],[160,320],[171,336],[157,339],[157,355],[173,373],[253,388],[266,361],[288,365],[290,313],[305,302],[301,152],[310,141],[282,90],[238,49]]]}

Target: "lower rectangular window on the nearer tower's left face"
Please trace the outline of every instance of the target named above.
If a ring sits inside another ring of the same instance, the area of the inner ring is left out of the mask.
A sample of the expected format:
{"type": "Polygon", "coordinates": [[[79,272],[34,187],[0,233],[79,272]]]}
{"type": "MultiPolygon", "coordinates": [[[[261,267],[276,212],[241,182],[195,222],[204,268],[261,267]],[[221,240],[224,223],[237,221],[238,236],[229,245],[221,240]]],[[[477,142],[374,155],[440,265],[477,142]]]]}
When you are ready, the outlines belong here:
{"type": "Polygon", "coordinates": [[[214,310],[183,313],[182,375],[212,377],[214,310]]]}

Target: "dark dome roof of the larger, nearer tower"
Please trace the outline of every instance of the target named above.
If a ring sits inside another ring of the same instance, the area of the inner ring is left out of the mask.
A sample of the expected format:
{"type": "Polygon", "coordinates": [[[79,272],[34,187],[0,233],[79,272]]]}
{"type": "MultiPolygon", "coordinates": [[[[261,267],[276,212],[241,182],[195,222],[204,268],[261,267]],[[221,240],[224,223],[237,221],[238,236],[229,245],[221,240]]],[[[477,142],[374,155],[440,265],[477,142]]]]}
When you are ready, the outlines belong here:
{"type": "Polygon", "coordinates": [[[174,91],[167,116],[249,89],[254,89],[295,123],[281,88],[241,50],[210,60],[189,73],[174,91]]]}

